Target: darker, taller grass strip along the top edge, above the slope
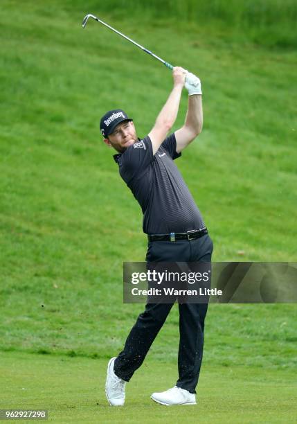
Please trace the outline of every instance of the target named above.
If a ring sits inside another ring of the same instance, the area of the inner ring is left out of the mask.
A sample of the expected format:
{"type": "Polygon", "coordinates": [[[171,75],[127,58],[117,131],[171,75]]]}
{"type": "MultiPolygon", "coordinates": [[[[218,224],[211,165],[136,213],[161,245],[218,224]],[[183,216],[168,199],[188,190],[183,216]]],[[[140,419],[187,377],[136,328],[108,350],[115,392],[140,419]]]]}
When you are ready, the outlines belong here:
{"type": "MultiPolygon", "coordinates": [[[[189,23],[228,39],[248,39],[265,46],[296,48],[297,5],[294,0],[110,0],[89,1],[87,10],[80,0],[63,2],[69,13],[110,14],[112,19],[134,17],[140,25],[179,26],[184,32],[189,23]]],[[[62,6],[63,7],[63,6],[62,6]]],[[[85,6],[86,7],[86,6],[85,6]]]]}

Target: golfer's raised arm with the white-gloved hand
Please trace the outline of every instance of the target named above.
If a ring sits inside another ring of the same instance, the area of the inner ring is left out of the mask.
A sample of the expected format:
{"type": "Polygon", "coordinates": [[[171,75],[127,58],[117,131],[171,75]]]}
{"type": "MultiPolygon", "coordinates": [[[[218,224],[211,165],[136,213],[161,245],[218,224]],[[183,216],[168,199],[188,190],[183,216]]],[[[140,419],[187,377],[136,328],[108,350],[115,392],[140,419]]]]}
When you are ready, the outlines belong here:
{"type": "Polygon", "coordinates": [[[177,153],[181,152],[193,141],[202,131],[203,109],[200,80],[197,86],[192,86],[186,82],[186,88],[189,91],[188,112],[186,121],[175,134],[177,140],[177,153]]]}

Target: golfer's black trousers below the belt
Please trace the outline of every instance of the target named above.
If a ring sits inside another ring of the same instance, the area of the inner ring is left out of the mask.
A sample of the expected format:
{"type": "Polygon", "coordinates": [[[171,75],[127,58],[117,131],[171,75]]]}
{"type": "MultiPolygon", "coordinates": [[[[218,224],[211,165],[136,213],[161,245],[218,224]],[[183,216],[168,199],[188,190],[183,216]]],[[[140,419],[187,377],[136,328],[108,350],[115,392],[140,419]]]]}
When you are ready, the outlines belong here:
{"type": "MultiPolygon", "coordinates": [[[[206,234],[196,240],[149,242],[147,262],[210,262],[213,242],[206,234]]],[[[125,381],[141,366],[173,303],[147,303],[114,362],[114,372],[125,381]]],[[[196,393],[204,345],[207,303],[179,304],[179,380],[177,387],[196,393]]]]}

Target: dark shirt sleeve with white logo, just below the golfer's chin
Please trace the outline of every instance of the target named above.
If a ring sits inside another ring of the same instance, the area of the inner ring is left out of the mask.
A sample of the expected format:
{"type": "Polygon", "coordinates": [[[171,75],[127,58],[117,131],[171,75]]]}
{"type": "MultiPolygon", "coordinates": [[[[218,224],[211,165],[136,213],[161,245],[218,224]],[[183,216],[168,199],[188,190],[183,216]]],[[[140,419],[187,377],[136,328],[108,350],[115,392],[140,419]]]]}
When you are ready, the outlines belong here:
{"type": "Polygon", "coordinates": [[[120,157],[120,176],[128,184],[132,179],[141,177],[153,159],[152,141],[146,136],[130,145],[120,157]]]}

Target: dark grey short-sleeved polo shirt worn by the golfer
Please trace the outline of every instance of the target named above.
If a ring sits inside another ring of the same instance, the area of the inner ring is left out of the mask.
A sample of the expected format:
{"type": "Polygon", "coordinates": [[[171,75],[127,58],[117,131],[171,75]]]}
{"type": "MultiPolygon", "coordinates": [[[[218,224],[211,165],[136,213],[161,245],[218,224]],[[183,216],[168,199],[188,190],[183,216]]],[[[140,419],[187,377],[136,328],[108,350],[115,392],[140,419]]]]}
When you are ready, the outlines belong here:
{"type": "Polygon", "coordinates": [[[143,211],[143,231],[147,234],[184,233],[205,227],[188,186],[174,164],[175,135],[167,137],[156,154],[149,136],[115,154],[120,176],[131,189],[143,211]]]}

